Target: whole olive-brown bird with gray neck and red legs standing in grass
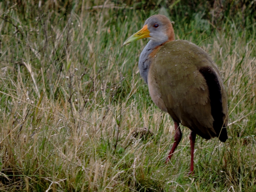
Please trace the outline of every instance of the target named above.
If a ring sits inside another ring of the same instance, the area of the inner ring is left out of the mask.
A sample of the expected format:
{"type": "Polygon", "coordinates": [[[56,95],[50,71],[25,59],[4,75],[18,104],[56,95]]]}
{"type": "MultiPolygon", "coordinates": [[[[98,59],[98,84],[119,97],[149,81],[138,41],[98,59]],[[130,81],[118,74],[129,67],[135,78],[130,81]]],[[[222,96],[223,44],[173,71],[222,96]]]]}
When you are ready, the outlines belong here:
{"type": "Polygon", "coordinates": [[[165,163],[180,143],[180,124],[188,127],[191,147],[189,175],[194,174],[196,135],[228,139],[228,99],[220,71],[210,55],[194,43],[175,40],[172,22],[164,15],[149,17],[123,45],[148,38],[139,57],[139,71],[151,99],[174,121],[174,143],[165,163]]]}

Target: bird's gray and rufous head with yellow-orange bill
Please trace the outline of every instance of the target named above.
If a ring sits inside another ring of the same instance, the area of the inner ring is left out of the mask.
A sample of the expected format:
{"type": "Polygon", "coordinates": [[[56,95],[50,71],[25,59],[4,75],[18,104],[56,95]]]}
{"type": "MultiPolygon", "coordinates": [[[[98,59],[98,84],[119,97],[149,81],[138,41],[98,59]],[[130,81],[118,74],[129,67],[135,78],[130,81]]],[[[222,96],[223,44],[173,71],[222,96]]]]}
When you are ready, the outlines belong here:
{"type": "Polygon", "coordinates": [[[175,38],[171,21],[164,15],[153,15],[149,17],[145,21],[143,28],[130,36],[124,42],[124,45],[142,38],[149,38],[159,43],[173,41],[175,38]]]}

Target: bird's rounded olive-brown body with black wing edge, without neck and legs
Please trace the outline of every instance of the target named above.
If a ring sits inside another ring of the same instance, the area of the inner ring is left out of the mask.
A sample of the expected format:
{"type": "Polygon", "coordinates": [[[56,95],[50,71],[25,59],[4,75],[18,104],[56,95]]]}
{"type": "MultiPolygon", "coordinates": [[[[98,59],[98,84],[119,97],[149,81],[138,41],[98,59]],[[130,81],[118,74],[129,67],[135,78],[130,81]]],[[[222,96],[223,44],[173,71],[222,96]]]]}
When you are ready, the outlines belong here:
{"type": "Polygon", "coordinates": [[[185,40],[167,42],[150,56],[148,87],[156,105],[201,137],[225,142],[227,94],[211,57],[185,40]]]}

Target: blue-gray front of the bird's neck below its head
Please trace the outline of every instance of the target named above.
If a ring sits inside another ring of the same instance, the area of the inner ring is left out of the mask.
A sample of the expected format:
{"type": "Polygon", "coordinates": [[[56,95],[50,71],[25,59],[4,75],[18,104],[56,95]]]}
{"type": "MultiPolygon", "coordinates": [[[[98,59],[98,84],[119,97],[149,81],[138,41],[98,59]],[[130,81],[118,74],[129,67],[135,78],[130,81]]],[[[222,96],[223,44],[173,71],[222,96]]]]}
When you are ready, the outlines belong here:
{"type": "Polygon", "coordinates": [[[151,58],[149,58],[149,54],[154,50],[154,48],[160,44],[163,44],[164,42],[156,42],[150,40],[146,47],[143,49],[143,51],[140,53],[140,59],[139,59],[139,70],[140,75],[144,79],[144,81],[148,84],[148,70],[149,66],[151,64],[151,58]]]}

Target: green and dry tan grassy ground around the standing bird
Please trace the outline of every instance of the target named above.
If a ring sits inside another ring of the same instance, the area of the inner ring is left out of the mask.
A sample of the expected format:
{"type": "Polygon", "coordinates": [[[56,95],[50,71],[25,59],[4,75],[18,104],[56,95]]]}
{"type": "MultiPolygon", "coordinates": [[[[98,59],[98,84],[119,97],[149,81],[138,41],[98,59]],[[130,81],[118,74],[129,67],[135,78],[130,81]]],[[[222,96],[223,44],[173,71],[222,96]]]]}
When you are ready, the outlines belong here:
{"type": "Polygon", "coordinates": [[[0,3],[1,191],[256,191],[253,20],[238,12],[216,27],[181,4],[170,12],[176,38],[210,53],[228,92],[228,140],[197,137],[188,177],[188,128],[164,164],[173,122],[138,73],[148,40],[122,46],[158,9],[12,5],[0,3]]]}

